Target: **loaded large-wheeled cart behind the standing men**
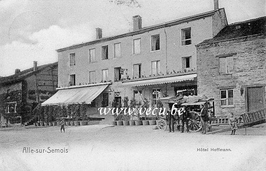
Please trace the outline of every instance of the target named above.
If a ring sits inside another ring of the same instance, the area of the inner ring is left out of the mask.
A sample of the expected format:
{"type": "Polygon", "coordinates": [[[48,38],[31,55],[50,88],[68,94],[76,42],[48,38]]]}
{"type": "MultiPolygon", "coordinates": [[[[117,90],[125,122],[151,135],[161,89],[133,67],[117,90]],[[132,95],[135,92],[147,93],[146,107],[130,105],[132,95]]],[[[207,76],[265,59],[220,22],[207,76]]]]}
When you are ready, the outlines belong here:
{"type": "MultiPolygon", "coordinates": [[[[182,110],[183,106],[187,106],[187,109],[190,113],[190,119],[188,121],[188,128],[189,131],[191,132],[196,132],[201,130],[201,117],[200,117],[200,111],[201,105],[206,105],[209,113],[211,116],[214,116],[214,103],[213,99],[207,99],[205,96],[181,96],[177,95],[176,97],[166,97],[166,98],[161,98],[159,99],[161,102],[164,104],[174,104],[175,108],[178,110],[182,110]]],[[[172,106],[171,105],[171,106],[172,106]]],[[[174,114],[175,118],[175,124],[174,128],[178,129],[180,127],[179,125],[179,115],[178,113],[174,114]]],[[[212,120],[214,117],[210,117],[212,120]]],[[[168,126],[168,121],[166,119],[166,114],[165,115],[159,115],[159,120],[157,122],[157,127],[162,130],[166,130],[168,126]]]]}

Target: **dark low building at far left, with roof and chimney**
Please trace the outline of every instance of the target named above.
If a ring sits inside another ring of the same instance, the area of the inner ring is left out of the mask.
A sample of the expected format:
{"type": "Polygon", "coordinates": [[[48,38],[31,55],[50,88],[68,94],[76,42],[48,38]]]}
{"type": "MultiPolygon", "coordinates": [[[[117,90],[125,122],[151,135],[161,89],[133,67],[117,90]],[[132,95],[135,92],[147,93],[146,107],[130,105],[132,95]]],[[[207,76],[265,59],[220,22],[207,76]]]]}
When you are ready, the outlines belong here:
{"type": "Polygon", "coordinates": [[[21,116],[23,122],[31,117],[38,103],[49,99],[57,87],[58,63],[33,67],[24,71],[16,69],[14,75],[0,78],[1,124],[5,118],[21,116]]]}

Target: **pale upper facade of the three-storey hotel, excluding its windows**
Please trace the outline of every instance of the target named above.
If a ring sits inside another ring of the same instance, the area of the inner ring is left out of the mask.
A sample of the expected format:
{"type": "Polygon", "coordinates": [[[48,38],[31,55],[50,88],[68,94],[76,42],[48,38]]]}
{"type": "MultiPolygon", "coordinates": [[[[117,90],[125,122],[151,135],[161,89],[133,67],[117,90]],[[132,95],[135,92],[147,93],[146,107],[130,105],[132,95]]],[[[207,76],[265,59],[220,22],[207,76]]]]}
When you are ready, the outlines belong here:
{"type": "Polygon", "coordinates": [[[196,70],[195,44],[205,39],[212,38],[212,17],[206,17],[171,26],[145,32],[142,34],[124,37],[109,42],[97,43],[89,46],[66,50],[58,53],[59,62],[59,86],[68,85],[69,74],[76,74],[76,85],[89,82],[89,71],[96,71],[96,82],[101,81],[101,70],[109,69],[110,80],[113,81],[114,67],[127,69],[129,78],[133,77],[133,64],[141,63],[141,75],[149,77],[151,74],[151,62],[160,60],[160,69],[166,74],[168,71],[181,71],[182,57],[192,57],[191,68],[196,70]],[[192,44],[181,46],[181,29],[191,27],[192,44]],[[160,34],[160,50],[151,52],[151,35],[160,34]],[[133,40],[141,38],[141,54],[133,55],[133,40]],[[167,42],[167,43],[166,43],[167,42]],[[121,43],[120,58],[113,58],[113,44],[121,43]],[[109,45],[109,59],[101,60],[101,46],[109,45]],[[95,48],[97,62],[89,63],[89,49],[95,48]],[[76,65],[69,67],[69,53],[76,54],[76,65]]]}

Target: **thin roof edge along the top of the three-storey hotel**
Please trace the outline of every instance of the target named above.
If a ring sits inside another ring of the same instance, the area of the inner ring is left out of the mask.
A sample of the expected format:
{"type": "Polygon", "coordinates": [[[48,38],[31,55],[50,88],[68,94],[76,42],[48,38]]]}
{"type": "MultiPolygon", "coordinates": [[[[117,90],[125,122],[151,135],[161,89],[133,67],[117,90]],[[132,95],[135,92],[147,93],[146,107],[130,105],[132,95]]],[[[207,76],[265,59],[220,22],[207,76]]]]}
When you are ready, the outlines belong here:
{"type": "Polygon", "coordinates": [[[155,29],[158,29],[158,28],[169,27],[169,26],[173,26],[173,25],[177,25],[177,24],[181,24],[181,23],[185,23],[185,22],[201,19],[201,18],[204,18],[204,17],[212,16],[213,14],[215,14],[215,12],[220,11],[220,10],[224,11],[224,8],[220,8],[218,10],[213,10],[213,11],[209,11],[209,12],[205,12],[205,13],[201,13],[201,14],[191,15],[191,16],[184,17],[184,18],[179,18],[179,19],[172,20],[172,21],[169,21],[169,22],[157,24],[157,25],[154,25],[154,26],[144,27],[144,28],[141,28],[139,30],[131,31],[131,32],[128,32],[128,33],[123,33],[123,34],[110,36],[110,37],[104,37],[104,38],[97,39],[97,40],[90,41],[90,42],[73,44],[73,45],[68,46],[68,47],[57,49],[56,51],[57,52],[62,52],[62,51],[68,50],[68,49],[74,49],[74,48],[77,48],[77,47],[86,46],[86,45],[90,45],[90,44],[94,44],[94,43],[106,42],[106,41],[110,41],[110,40],[114,40],[114,39],[119,39],[119,38],[122,38],[122,37],[128,37],[128,36],[132,36],[132,35],[137,35],[137,34],[141,34],[141,33],[148,32],[148,31],[151,31],[151,30],[155,30],[155,29]]]}

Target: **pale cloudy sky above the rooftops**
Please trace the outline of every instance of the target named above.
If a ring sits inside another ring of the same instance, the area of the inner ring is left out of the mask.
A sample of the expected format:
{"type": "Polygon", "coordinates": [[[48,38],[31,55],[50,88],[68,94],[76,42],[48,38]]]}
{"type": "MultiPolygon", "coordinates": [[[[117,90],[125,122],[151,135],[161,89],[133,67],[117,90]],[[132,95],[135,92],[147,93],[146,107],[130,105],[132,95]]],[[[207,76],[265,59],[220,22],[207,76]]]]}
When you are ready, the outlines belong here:
{"type": "MultiPolygon", "coordinates": [[[[219,0],[228,23],[266,15],[266,0],[219,0]]],[[[56,49],[213,10],[213,0],[0,0],[0,76],[56,62],[56,49]],[[133,1],[133,2],[132,2],[133,1]],[[126,3],[122,3],[126,2],[126,3]],[[131,3],[132,2],[132,3],[131,3]]]]}

